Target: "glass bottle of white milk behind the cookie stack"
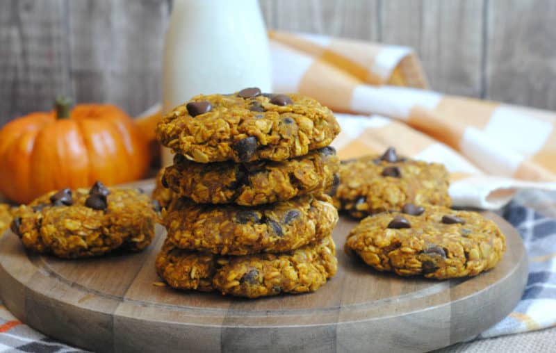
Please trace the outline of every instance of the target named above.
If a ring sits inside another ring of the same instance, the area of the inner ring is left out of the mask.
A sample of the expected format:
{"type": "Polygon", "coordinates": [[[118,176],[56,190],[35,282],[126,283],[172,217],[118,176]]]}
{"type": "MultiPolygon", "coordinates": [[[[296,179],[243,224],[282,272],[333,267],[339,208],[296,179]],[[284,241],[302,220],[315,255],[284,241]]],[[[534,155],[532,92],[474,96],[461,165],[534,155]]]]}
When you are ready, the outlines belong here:
{"type": "MultiPolygon", "coordinates": [[[[272,89],[258,0],[174,0],[163,58],[163,114],[198,94],[272,89]]],[[[163,149],[163,165],[172,163],[163,149]]]]}

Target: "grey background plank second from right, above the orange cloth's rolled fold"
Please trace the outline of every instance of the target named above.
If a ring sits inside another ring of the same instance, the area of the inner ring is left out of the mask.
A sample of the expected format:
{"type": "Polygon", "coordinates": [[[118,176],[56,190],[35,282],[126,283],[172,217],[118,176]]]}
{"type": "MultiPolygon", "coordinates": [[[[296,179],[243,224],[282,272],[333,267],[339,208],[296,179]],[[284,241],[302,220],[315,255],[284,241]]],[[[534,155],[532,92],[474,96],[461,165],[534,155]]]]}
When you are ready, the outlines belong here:
{"type": "Polygon", "coordinates": [[[384,1],[382,42],[413,47],[434,90],[481,97],[483,2],[384,1]]]}

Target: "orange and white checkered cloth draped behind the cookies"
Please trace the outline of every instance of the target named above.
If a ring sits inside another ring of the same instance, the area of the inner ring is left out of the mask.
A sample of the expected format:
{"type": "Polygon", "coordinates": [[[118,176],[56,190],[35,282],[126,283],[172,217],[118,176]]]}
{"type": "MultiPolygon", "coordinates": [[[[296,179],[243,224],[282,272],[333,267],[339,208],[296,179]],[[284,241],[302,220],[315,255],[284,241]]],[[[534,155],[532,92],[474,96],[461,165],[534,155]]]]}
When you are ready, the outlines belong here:
{"type": "Polygon", "coordinates": [[[556,113],[427,90],[407,47],[270,32],[275,92],[337,114],[341,158],[381,153],[443,163],[455,206],[499,208],[519,188],[556,190],[556,113]]]}

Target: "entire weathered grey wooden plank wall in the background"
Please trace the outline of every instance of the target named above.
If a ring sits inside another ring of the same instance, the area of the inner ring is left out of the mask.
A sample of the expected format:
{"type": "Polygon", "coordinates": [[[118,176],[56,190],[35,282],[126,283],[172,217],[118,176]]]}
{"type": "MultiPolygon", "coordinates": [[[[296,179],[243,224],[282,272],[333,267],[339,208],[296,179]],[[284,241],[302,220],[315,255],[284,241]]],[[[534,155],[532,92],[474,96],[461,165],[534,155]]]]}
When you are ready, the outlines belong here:
{"type": "MultiPolygon", "coordinates": [[[[434,90],[556,110],[556,1],[259,0],[269,28],[414,47],[434,90]]],[[[54,95],[161,95],[171,0],[0,0],[0,125],[54,95]]]]}

